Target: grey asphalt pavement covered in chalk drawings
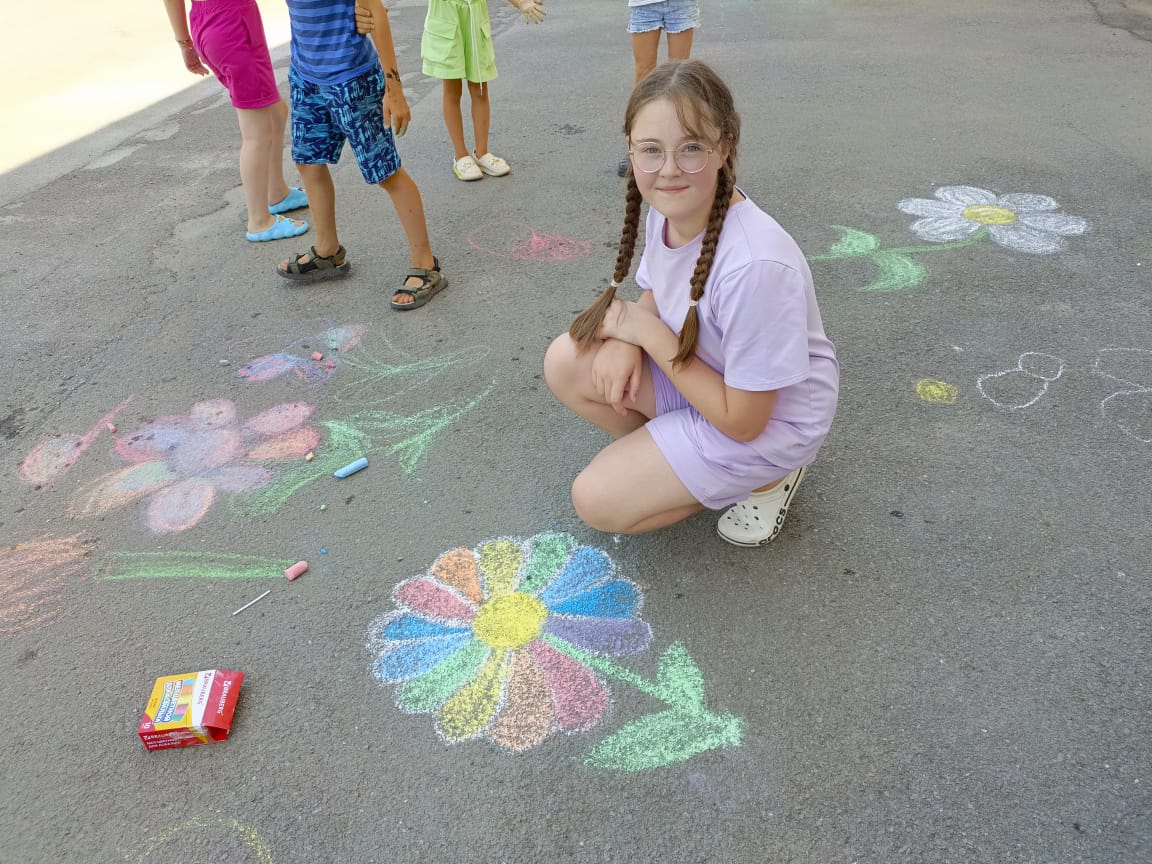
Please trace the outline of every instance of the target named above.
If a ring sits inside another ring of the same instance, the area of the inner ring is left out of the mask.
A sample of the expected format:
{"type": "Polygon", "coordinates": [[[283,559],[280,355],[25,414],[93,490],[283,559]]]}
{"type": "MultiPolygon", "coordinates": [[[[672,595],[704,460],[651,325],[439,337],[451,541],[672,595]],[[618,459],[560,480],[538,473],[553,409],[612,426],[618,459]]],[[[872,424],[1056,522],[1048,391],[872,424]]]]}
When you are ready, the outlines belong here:
{"type": "Polygon", "coordinates": [[[547,8],[493,5],[513,173],[465,184],[394,7],[418,311],[350,154],[348,279],[244,242],[213,81],[0,177],[0,862],[1152,859],[1146,6],[704,3],[842,366],[764,550],[571,508],[606,440],[540,359],[612,273],[631,58],[547,8]],[[199,669],[230,736],[145,751],[199,669]]]}

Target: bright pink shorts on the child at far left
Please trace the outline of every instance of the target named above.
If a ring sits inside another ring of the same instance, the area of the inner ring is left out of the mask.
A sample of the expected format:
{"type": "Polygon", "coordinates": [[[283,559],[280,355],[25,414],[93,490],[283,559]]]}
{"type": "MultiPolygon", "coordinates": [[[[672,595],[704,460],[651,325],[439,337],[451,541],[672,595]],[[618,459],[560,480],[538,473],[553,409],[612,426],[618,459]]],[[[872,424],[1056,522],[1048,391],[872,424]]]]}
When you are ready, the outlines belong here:
{"type": "Polygon", "coordinates": [[[228,90],[234,107],[266,108],[280,101],[256,0],[192,0],[188,21],[196,53],[228,90]]]}

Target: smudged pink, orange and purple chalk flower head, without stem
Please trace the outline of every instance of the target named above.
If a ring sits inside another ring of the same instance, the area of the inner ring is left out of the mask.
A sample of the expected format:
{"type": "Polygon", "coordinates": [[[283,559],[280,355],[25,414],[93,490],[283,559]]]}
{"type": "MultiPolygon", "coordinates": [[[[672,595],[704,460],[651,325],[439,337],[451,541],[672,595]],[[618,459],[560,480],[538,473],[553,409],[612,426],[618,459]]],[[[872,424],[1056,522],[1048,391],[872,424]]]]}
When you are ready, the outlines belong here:
{"type": "Polygon", "coordinates": [[[320,442],[305,425],[312,406],[286,402],[241,422],[227,399],[198,402],[187,415],[161,417],[116,438],[131,465],[99,479],[75,508],[96,516],[147,499],[156,533],[187,531],[222,493],[251,492],[273,472],[263,463],[300,458],[320,442]]]}

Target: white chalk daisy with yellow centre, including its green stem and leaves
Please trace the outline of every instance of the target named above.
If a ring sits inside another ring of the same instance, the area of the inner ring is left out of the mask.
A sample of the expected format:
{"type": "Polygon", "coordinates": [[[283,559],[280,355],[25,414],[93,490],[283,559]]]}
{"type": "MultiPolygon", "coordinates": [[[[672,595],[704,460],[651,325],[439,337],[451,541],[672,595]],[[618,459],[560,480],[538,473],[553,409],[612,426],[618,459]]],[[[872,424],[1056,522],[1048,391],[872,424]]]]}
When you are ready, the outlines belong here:
{"type": "Polygon", "coordinates": [[[985,237],[1015,252],[1052,255],[1067,248],[1066,237],[1089,230],[1086,220],[1059,212],[1060,204],[1047,195],[998,195],[978,187],[945,185],[934,196],[904,198],[896,204],[902,213],[919,217],[909,230],[933,245],[884,249],[877,236],[835,225],[832,227],[840,240],[824,255],[809,256],[809,260],[869,258],[878,274],[864,290],[892,291],[915,288],[927,279],[927,270],[914,256],[960,249],[985,237]]]}

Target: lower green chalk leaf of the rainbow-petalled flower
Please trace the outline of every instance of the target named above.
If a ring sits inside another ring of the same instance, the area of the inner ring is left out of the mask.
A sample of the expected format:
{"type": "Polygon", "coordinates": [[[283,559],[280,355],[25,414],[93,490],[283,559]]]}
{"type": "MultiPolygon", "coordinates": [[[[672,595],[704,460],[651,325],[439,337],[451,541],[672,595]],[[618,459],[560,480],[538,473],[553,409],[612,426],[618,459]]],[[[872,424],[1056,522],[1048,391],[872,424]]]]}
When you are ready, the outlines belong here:
{"type": "Polygon", "coordinates": [[[588,765],[612,771],[649,771],[687,761],[722,746],[738,746],[744,723],[732,714],[661,711],[624,726],[584,757],[588,765]]]}

